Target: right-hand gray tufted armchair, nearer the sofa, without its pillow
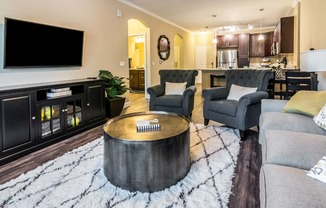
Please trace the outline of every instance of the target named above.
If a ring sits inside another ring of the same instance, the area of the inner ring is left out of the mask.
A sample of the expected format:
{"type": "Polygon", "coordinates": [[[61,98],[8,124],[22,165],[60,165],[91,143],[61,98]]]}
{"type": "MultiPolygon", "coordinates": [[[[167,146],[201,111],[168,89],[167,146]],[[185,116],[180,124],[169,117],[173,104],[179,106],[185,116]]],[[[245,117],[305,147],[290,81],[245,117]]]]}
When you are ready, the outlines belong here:
{"type": "Polygon", "coordinates": [[[268,98],[267,85],[272,76],[270,70],[234,69],[225,72],[226,87],[203,90],[204,124],[209,120],[244,131],[258,125],[261,112],[261,100],[268,98]],[[242,96],[239,101],[227,100],[231,85],[257,87],[257,91],[242,96]]]}

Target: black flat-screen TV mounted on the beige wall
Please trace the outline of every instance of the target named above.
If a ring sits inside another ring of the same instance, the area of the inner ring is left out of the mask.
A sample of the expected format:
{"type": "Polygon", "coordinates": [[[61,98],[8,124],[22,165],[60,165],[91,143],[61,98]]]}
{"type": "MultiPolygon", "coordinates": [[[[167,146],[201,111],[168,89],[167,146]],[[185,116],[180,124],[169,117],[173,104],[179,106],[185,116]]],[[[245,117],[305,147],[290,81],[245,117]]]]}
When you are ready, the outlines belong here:
{"type": "Polygon", "coordinates": [[[82,66],[84,32],[5,18],[4,68],[82,66]]]}

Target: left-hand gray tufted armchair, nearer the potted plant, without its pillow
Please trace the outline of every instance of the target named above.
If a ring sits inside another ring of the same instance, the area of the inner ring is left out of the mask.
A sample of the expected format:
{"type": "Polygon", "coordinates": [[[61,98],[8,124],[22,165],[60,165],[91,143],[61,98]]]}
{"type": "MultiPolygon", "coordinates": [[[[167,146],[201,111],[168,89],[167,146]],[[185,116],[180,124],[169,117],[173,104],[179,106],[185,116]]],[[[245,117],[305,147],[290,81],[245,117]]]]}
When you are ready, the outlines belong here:
{"type": "Polygon", "coordinates": [[[149,87],[150,111],[167,111],[190,117],[194,109],[197,70],[160,70],[160,84],[149,87]],[[182,95],[165,95],[165,83],[187,82],[182,95]]]}

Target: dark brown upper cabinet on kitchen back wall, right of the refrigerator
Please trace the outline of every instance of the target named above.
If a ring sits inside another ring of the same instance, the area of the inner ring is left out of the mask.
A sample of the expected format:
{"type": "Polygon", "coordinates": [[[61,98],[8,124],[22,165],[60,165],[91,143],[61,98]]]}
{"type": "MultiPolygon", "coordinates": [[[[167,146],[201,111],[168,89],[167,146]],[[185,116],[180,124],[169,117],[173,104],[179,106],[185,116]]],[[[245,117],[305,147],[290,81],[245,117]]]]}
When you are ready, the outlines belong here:
{"type": "Polygon", "coordinates": [[[258,40],[260,34],[250,34],[250,57],[272,56],[273,32],[263,33],[264,40],[258,40]]]}

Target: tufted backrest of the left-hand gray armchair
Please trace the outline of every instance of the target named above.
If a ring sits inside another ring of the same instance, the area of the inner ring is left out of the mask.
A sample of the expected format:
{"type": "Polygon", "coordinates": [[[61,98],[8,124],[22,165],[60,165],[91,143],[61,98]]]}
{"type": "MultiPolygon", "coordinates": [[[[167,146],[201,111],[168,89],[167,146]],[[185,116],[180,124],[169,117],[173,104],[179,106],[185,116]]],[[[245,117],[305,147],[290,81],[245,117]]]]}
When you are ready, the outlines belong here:
{"type": "Polygon", "coordinates": [[[187,87],[195,85],[195,79],[198,75],[197,70],[182,69],[162,69],[159,71],[161,85],[165,87],[165,82],[181,83],[187,82],[187,87]]]}

